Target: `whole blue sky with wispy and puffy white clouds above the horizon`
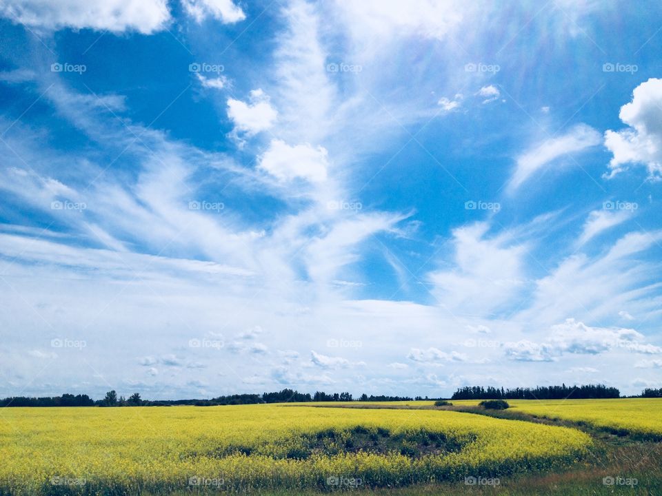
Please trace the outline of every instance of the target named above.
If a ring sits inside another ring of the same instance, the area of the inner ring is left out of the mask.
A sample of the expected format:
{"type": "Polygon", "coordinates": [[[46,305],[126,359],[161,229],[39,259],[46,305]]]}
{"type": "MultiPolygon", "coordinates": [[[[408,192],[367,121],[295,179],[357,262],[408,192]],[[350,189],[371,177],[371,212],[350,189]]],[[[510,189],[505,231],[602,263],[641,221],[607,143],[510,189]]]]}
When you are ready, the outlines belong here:
{"type": "Polygon", "coordinates": [[[662,12],[1,0],[0,396],[662,386],[662,12]]]}

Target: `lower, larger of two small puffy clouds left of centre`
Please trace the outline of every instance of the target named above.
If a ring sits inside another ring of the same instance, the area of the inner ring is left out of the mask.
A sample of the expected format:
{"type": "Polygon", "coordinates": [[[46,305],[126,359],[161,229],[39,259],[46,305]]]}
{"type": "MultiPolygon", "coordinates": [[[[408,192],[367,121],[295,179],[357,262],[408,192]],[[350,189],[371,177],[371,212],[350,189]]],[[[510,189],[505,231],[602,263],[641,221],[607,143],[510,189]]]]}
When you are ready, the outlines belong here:
{"type": "Polygon", "coordinates": [[[328,152],[308,143],[290,146],[274,139],[260,157],[259,167],[281,181],[304,178],[312,183],[326,180],[328,152]]]}

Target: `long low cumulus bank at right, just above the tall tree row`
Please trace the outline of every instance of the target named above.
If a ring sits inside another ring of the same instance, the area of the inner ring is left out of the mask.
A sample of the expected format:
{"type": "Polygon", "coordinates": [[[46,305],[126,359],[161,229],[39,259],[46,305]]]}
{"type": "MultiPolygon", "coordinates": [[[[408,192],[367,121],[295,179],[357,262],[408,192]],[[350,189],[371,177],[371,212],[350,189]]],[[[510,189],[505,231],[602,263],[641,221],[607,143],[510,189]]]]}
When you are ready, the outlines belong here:
{"type": "Polygon", "coordinates": [[[545,342],[520,340],[505,344],[510,360],[551,362],[566,353],[598,355],[614,349],[634,353],[662,353],[662,347],[642,343],[643,335],[634,329],[590,327],[572,318],[550,329],[552,336],[545,342]]]}

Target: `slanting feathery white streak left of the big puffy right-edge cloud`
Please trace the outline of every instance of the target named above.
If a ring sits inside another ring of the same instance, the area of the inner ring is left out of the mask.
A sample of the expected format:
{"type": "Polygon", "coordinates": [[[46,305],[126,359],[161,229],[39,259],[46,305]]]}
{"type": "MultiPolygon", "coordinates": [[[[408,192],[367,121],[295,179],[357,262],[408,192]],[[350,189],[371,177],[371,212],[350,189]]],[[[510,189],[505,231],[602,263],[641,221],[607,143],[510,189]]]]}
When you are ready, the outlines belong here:
{"type": "Polygon", "coordinates": [[[548,138],[517,158],[517,167],[510,178],[508,189],[512,192],[519,188],[533,174],[556,159],[579,153],[588,147],[599,145],[600,142],[599,132],[585,124],[576,125],[563,136],[548,138]]]}

